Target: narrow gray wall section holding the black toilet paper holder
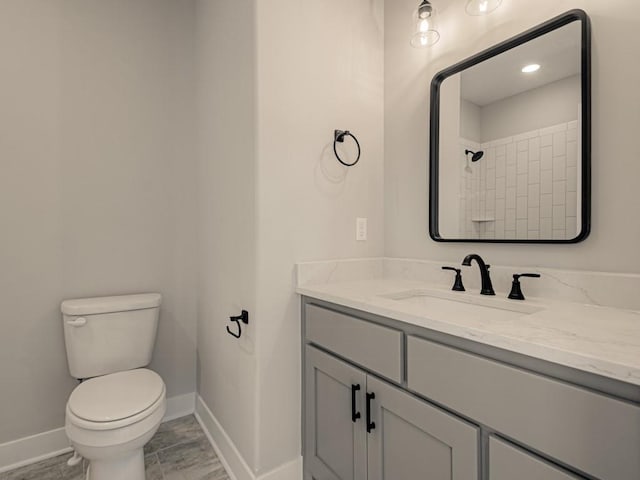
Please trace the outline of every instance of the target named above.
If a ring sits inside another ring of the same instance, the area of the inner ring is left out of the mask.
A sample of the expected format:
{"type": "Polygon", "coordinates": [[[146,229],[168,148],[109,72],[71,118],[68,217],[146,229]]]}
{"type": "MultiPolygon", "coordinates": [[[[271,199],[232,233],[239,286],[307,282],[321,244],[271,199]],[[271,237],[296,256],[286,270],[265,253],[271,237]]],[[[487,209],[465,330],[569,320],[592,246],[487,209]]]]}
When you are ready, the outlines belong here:
{"type": "Polygon", "coordinates": [[[256,457],[254,0],[197,2],[198,392],[246,462],[256,457]],[[249,311],[235,340],[230,315],[249,311]]]}

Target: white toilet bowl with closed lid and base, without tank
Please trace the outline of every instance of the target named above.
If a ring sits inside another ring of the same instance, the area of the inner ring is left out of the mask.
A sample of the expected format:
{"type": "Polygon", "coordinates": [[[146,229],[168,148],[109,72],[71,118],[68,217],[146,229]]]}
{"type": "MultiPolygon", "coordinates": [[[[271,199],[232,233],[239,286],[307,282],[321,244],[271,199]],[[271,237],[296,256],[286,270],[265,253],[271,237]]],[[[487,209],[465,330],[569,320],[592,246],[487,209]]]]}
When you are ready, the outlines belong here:
{"type": "Polygon", "coordinates": [[[166,389],[152,370],[138,368],[78,385],[66,407],[65,431],[89,460],[87,480],[144,480],[144,445],[166,412],[166,389]]]}

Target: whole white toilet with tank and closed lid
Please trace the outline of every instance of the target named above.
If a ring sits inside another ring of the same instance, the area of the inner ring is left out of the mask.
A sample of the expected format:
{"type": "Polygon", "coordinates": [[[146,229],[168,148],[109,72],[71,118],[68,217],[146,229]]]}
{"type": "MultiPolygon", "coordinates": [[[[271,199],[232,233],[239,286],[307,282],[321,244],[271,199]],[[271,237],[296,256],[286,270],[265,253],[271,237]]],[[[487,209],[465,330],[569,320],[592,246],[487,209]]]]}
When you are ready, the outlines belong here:
{"type": "Polygon", "coordinates": [[[67,401],[65,431],[89,461],[87,480],[145,478],[143,447],[166,412],[164,381],[144,368],[161,299],[148,293],[61,304],[69,371],[81,380],[67,401]]]}

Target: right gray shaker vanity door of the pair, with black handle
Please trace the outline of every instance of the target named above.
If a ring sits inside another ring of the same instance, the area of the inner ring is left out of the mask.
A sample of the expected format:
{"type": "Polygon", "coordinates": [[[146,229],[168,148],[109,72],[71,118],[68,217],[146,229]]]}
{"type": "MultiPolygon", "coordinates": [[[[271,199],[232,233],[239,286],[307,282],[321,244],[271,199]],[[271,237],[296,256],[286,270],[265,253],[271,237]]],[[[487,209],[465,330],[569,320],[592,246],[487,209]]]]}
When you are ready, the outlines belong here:
{"type": "Polygon", "coordinates": [[[477,480],[479,430],[369,377],[369,480],[477,480]]]}

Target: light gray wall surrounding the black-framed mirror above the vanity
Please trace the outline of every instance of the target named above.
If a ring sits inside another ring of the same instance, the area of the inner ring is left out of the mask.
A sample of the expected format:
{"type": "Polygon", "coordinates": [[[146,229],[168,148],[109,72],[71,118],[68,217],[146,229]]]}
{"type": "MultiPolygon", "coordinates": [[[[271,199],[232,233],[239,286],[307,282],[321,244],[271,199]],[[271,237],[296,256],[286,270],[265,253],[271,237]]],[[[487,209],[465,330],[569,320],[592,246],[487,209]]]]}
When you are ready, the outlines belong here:
{"type": "Polygon", "coordinates": [[[634,158],[640,128],[640,11],[633,0],[503,2],[484,18],[465,15],[453,0],[440,15],[441,40],[429,50],[409,46],[412,0],[385,10],[385,253],[392,257],[460,262],[474,250],[490,263],[640,272],[640,209],[634,158]],[[428,237],[428,118],[433,75],[473,53],[572,8],[584,8],[593,26],[593,230],[577,245],[439,244],[428,237]]]}

